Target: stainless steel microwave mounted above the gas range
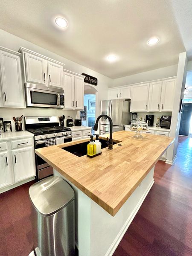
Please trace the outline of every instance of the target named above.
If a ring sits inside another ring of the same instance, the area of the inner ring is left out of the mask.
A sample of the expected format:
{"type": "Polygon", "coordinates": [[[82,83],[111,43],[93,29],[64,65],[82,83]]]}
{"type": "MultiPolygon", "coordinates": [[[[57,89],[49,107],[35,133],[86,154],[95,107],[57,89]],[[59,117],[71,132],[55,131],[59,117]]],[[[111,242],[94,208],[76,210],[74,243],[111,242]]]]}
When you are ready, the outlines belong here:
{"type": "Polygon", "coordinates": [[[64,90],[25,83],[27,107],[64,108],[64,90]]]}

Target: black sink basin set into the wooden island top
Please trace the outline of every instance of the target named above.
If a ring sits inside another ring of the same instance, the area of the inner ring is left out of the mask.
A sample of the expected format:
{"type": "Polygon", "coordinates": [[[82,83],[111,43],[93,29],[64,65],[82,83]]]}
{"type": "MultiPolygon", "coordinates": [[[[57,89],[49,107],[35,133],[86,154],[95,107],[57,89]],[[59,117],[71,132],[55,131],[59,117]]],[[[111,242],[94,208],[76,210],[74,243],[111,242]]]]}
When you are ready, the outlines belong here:
{"type": "MultiPolygon", "coordinates": [[[[100,143],[102,143],[102,148],[108,147],[107,140],[99,139],[99,141],[100,141],[100,143]]],[[[113,141],[113,145],[117,144],[117,143],[119,143],[119,142],[113,141]]],[[[62,149],[76,155],[77,157],[82,157],[87,154],[87,144],[89,144],[89,141],[79,143],[76,145],[71,145],[71,146],[68,146],[68,147],[65,147],[62,149]]]]}

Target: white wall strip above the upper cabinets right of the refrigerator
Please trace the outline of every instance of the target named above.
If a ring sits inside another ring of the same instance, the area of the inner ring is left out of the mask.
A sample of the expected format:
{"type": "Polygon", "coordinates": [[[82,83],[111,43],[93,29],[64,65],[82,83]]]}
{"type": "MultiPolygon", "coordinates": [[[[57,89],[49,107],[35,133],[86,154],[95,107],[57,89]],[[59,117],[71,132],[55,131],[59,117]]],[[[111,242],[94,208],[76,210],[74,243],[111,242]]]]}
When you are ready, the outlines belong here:
{"type": "Polygon", "coordinates": [[[143,73],[134,74],[131,76],[124,76],[113,80],[113,84],[109,87],[123,86],[127,84],[142,83],[145,81],[152,81],[163,79],[167,77],[177,76],[177,66],[162,67],[156,70],[150,70],[143,73]]]}

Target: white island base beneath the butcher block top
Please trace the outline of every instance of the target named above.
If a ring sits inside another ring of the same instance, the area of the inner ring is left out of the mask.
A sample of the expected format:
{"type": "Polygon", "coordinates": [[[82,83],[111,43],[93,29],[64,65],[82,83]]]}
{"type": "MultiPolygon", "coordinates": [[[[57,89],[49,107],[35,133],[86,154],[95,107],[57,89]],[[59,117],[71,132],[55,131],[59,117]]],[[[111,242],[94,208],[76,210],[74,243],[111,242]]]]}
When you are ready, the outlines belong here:
{"type": "Polygon", "coordinates": [[[79,256],[112,256],[154,183],[154,167],[113,217],[59,172],[75,191],[79,256]]]}

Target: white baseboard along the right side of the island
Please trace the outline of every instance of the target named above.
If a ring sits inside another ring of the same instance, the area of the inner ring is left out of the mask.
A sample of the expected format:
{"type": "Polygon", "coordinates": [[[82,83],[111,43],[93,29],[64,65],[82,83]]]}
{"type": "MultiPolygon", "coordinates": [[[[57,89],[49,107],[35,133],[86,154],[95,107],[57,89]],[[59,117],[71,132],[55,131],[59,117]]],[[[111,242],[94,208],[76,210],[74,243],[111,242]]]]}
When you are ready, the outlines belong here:
{"type": "Polygon", "coordinates": [[[143,201],[145,200],[145,197],[147,196],[147,194],[148,194],[149,190],[151,189],[151,187],[153,186],[153,184],[154,184],[154,179],[151,180],[151,183],[149,184],[148,188],[145,190],[145,193],[143,194],[143,197],[140,199],[137,206],[134,208],[132,214],[129,216],[128,220],[123,225],[122,229],[120,230],[119,234],[116,236],[116,239],[113,241],[113,243],[109,247],[105,256],[112,256],[113,255],[114,251],[116,250],[116,247],[119,245],[121,239],[125,235],[125,232],[127,231],[129,225],[131,224],[135,215],[137,214],[138,210],[140,209],[141,205],[143,204],[143,201]]]}

